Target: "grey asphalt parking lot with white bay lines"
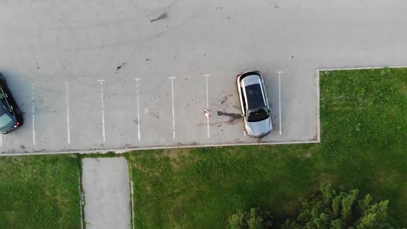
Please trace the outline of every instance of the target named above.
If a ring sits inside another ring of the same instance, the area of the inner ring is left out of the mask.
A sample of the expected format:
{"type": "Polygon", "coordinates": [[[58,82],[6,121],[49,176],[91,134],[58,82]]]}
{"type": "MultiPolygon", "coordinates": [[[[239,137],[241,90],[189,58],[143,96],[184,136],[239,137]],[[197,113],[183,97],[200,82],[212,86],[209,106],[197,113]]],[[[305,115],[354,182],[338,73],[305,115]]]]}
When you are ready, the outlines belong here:
{"type": "Polygon", "coordinates": [[[319,141],[317,68],[406,64],[406,1],[5,1],[0,72],[25,123],[0,152],[319,141]],[[274,130],[244,132],[260,70],[274,130]],[[206,119],[203,110],[212,116],[206,119]]]}

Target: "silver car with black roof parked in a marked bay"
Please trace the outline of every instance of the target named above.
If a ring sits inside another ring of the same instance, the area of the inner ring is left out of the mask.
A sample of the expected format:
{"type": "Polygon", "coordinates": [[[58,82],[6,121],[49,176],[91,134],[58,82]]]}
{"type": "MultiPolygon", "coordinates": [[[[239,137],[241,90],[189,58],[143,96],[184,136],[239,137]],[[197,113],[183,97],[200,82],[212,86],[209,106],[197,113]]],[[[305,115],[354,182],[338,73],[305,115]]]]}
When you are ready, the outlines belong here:
{"type": "Polygon", "coordinates": [[[244,118],[244,128],[250,137],[264,137],[272,131],[270,108],[259,71],[247,71],[237,75],[237,90],[244,118]]]}

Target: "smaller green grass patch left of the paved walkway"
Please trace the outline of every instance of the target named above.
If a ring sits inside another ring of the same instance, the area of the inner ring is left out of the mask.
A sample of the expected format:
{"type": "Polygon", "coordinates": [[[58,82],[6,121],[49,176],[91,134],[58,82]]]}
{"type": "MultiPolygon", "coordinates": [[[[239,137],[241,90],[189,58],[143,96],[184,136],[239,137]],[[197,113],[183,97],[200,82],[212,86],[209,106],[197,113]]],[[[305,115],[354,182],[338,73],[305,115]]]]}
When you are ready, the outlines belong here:
{"type": "Polygon", "coordinates": [[[81,228],[78,157],[0,157],[0,228],[81,228]]]}

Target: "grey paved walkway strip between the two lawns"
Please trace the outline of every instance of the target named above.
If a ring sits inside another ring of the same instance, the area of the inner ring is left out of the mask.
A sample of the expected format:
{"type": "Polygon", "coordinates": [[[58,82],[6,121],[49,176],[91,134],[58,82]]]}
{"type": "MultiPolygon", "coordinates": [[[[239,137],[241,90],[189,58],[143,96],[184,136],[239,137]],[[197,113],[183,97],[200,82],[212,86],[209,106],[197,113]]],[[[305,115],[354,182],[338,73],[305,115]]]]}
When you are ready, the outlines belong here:
{"type": "Polygon", "coordinates": [[[130,228],[130,181],[124,157],[82,161],[86,228],[130,228]]]}

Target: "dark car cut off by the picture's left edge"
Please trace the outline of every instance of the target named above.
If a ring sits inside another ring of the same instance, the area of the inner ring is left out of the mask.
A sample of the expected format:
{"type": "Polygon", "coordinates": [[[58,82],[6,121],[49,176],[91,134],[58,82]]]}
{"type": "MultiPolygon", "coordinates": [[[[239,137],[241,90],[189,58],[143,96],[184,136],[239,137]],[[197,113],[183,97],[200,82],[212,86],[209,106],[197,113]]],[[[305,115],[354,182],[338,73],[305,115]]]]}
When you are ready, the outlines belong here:
{"type": "Polygon", "coordinates": [[[8,134],[23,125],[23,113],[8,90],[6,79],[0,73],[0,131],[8,134]]]}

